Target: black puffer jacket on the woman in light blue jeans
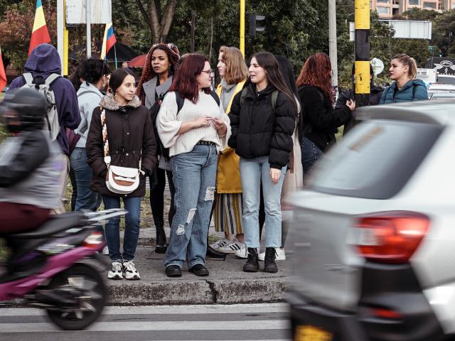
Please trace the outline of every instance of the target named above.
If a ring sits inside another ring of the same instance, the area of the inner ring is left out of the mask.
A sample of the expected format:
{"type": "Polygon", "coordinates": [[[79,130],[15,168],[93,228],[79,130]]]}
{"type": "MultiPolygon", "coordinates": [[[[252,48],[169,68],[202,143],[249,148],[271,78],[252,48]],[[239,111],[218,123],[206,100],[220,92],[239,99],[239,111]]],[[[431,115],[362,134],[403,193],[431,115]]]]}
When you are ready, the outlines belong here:
{"type": "Polygon", "coordinates": [[[279,92],[274,112],[271,98],[274,90],[269,84],[256,92],[256,85],[250,83],[242,104],[242,92],[235,95],[229,114],[232,135],[228,145],[242,158],[269,156],[270,167],[281,169],[289,161],[296,109],[291,99],[279,92]]]}

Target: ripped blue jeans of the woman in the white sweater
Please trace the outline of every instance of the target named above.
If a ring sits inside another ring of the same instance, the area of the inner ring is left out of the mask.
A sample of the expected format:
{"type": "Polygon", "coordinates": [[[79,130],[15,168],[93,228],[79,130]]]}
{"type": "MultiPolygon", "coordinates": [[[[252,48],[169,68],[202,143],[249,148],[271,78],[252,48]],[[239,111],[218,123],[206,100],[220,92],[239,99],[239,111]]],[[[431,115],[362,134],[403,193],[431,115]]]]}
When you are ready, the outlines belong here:
{"type": "Polygon", "coordinates": [[[210,211],[215,197],[218,153],[216,146],[196,145],[189,153],[171,158],[176,188],[176,213],[171,225],[171,239],[164,266],[188,269],[205,264],[210,211]]]}

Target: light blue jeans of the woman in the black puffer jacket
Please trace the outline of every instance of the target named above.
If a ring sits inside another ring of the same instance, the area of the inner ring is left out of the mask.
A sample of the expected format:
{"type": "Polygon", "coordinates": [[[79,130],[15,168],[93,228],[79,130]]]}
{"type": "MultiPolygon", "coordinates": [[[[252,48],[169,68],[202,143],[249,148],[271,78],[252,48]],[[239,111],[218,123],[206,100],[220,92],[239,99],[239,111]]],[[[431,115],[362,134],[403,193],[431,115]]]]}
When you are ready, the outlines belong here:
{"type": "Polygon", "coordinates": [[[259,244],[259,202],[260,188],[264,194],[265,228],[267,231],[265,247],[281,247],[282,244],[282,207],[281,195],[286,167],[277,183],[270,179],[269,157],[240,158],[240,179],[243,191],[242,224],[245,232],[245,245],[257,248],[259,244]]]}

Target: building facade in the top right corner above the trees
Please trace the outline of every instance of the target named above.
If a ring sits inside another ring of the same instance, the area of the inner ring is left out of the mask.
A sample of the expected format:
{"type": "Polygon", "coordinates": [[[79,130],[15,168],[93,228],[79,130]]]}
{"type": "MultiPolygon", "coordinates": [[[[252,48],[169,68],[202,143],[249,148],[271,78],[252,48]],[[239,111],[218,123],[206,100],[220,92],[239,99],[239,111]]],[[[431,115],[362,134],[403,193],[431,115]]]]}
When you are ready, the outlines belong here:
{"type": "Polygon", "coordinates": [[[370,5],[380,18],[390,19],[416,7],[440,12],[455,9],[455,0],[371,0],[370,5]]]}

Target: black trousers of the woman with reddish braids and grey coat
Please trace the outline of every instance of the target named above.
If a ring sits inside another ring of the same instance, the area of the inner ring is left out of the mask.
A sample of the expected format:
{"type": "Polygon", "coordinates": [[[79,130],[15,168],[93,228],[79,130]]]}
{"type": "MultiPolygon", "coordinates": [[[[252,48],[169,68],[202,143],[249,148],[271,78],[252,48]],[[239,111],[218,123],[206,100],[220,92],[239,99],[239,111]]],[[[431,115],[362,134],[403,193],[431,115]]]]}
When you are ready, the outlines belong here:
{"type": "Polygon", "coordinates": [[[164,226],[164,189],[166,188],[165,174],[168,177],[169,190],[171,192],[171,207],[169,207],[168,212],[169,226],[172,225],[173,215],[175,214],[174,195],[176,193],[176,188],[173,185],[172,172],[164,171],[156,166],[154,173],[149,178],[150,207],[156,227],[164,226]]]}

